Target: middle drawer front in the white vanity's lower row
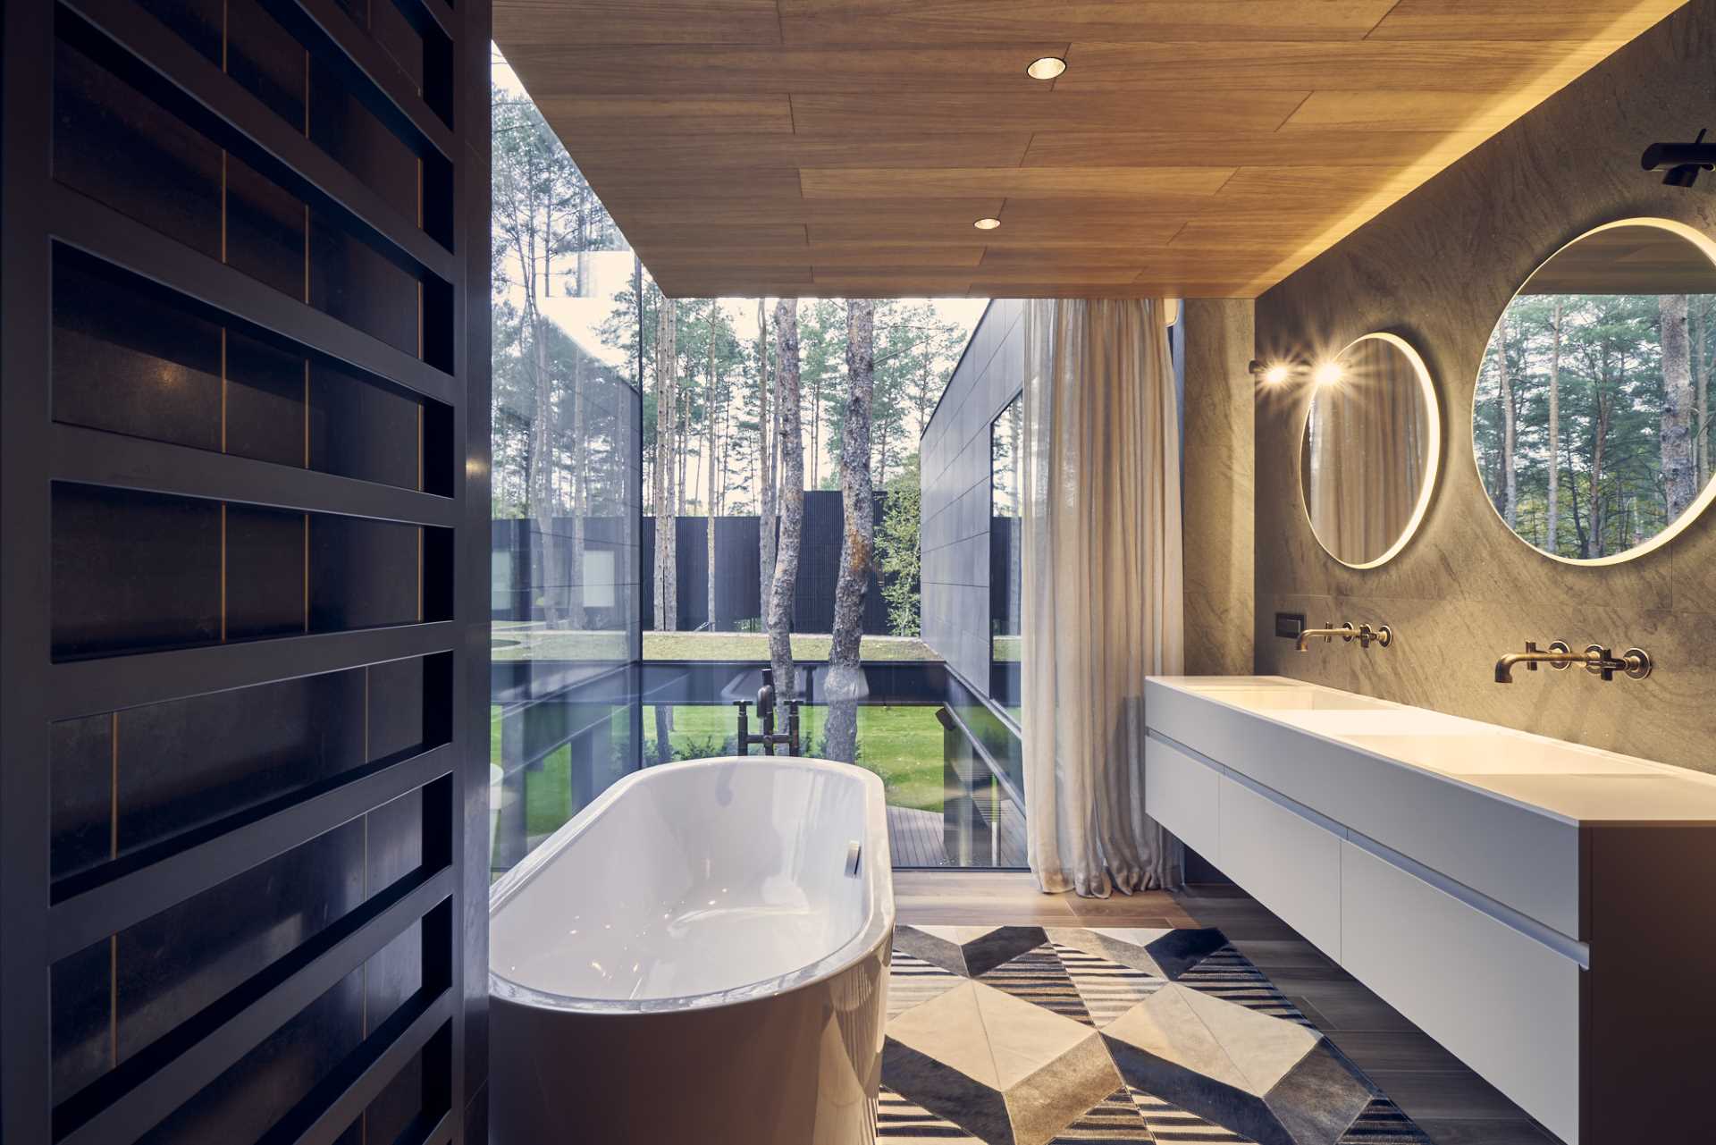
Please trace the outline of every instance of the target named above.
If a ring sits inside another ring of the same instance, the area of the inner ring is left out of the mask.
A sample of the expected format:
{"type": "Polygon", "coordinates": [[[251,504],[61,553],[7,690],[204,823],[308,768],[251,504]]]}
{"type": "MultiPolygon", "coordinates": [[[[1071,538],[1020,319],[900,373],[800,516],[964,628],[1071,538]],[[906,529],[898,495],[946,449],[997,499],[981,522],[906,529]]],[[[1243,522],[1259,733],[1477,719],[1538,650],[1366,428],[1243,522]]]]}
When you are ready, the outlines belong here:
{"type": "Polygon", "coordinates": [[[1222,776],[1222,874],[1340,961],[1340,836],[1222,776]]]}

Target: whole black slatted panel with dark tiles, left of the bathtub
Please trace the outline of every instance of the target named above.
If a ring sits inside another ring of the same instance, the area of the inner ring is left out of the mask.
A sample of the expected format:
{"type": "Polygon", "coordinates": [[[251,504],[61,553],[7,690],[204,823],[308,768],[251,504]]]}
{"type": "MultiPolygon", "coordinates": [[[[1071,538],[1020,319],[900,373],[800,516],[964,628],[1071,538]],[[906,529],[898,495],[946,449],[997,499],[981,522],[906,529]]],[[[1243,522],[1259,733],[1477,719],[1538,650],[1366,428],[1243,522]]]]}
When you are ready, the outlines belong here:
{"type": "Polygon", "coordinates": [[[487,7],[3,21],[0,1136],[482,1142],[487,7]]]}

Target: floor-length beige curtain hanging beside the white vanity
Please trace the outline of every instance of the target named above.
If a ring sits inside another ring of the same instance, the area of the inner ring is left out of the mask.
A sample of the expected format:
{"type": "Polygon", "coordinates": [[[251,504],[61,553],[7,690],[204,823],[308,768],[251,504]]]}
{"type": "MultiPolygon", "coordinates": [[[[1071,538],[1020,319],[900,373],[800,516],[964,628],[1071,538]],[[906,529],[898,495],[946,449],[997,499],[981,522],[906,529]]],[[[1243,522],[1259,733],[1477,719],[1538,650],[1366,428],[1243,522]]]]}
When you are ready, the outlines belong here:
{"type": "Polygon", "coordinates": [[[1024,803],[1043,891],[1172,888],[1145,676],[1184,666],[1179,410],[1158,300],[1024,309],[1024,803]]]}

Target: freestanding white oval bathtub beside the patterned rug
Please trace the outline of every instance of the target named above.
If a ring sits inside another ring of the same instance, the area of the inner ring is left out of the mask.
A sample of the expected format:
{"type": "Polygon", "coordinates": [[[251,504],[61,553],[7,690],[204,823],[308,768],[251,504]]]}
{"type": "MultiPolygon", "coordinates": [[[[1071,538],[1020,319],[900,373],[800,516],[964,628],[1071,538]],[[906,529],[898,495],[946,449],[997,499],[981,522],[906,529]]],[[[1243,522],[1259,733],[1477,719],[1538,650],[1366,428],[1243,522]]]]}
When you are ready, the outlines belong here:
{"type": "Polygon", "coordinates": [[[868,1145],[894,891],[882,781],[626,776],[494,884],[496,1145],[868,1145]]]}

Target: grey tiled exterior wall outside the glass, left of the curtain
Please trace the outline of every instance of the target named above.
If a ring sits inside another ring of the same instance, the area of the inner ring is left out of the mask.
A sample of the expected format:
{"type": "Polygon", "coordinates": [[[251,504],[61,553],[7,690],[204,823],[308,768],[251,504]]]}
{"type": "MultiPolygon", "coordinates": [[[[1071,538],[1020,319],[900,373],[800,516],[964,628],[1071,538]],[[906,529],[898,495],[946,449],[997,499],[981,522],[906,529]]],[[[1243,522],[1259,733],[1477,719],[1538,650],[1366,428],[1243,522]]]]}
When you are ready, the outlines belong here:
{"type": "Polygon", "coordinates": [[[923,640],[988,690],[988,427],[1024,385],[1024,304],[997,299],[920,441],[923,640]]]}

